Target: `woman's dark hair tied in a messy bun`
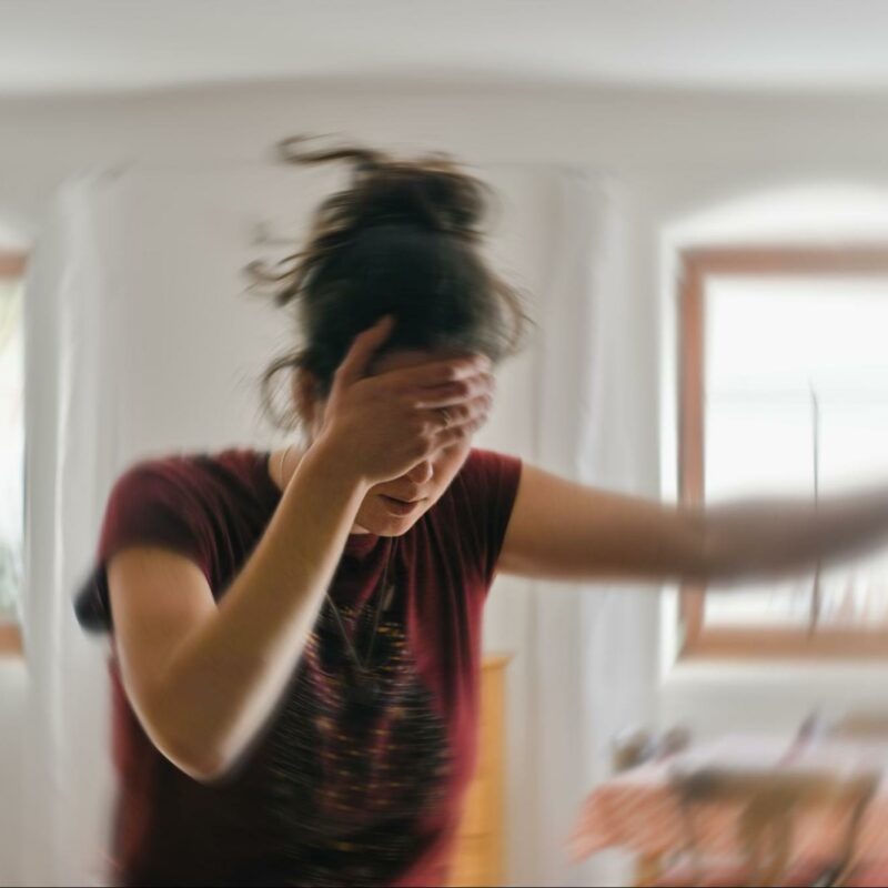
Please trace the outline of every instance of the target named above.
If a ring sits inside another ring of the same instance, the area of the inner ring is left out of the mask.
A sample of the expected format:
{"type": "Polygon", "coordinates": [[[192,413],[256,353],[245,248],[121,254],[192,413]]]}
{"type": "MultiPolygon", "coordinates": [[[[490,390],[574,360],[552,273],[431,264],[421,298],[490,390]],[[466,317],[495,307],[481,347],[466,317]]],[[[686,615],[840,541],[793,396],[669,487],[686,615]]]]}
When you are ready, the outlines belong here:
{"type": "MultiPolygon", "coordinates": [[[[299,417],[273,406],[273,381],[283,370],[309,372],[317,394],[354,337],[384,314],[395,317],[383,353],[440,349],[482,353],[494,363],[519,347],[527,317],[517,291],[492,272],[480,253],[490,189],[444,154],[394,160],[346,145],[310,151],[305,137],[280,143],[287,163],[344,161],[349,186],[317,208],[305,248],[272,273],[275,301],[294,306],[303,345],[272,362],[264,403],[281,425],[299,417]]],[[[294,422],[295,421],[295,422],[294,422]]]]}

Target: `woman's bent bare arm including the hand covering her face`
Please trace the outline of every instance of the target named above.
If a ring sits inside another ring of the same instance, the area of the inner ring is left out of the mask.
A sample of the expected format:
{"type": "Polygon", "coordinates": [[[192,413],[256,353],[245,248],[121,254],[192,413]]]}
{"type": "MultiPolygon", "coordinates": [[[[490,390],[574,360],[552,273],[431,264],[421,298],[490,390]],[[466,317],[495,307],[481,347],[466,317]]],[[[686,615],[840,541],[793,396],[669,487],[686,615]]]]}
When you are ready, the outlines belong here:
{"type": "Polygon", "coordinates": [[[355,340],[255,551],[216,604],[195,564],[132,547],[108,568],[127,695],[154,745],[213,780],[234,766],[286,687],[367,491],[476,431],[490,406],[475,359],[366,376],[391,330],[355,340]],[[455,417],[442,426],[436,407],[455,417]]]}

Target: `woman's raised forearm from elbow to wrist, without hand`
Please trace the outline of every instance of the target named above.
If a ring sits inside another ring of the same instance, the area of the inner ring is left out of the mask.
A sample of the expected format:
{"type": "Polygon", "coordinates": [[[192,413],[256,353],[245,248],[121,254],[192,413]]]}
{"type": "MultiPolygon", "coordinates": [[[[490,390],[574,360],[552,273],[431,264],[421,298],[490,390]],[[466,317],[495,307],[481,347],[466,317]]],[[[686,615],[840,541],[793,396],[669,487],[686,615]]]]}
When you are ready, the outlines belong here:
{"type": "Polygon", "coordinates": [[[323,443],[309,450],[218,613],[171,657],[150,718],[193,776],[224,774],[279,702],[365,493],[323,443]]]}

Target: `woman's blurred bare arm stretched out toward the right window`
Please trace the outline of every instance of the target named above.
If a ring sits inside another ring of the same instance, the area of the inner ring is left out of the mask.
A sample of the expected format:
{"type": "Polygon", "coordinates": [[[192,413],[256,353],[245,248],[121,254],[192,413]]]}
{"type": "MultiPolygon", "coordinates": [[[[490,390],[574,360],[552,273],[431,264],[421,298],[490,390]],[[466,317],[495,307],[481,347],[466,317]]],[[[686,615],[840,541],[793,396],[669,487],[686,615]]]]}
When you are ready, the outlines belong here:
{"type": "Polygon", "coordinates": [[[525,465],[500,569],[551,579],[717,581],[804,571],[888,542],[888,486],[708,508],[608,493],[525,465]]]}

